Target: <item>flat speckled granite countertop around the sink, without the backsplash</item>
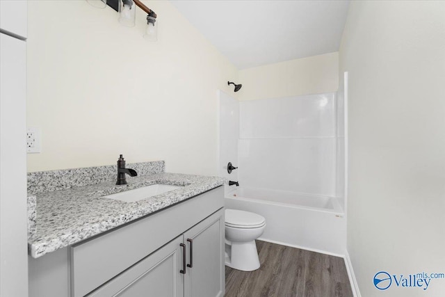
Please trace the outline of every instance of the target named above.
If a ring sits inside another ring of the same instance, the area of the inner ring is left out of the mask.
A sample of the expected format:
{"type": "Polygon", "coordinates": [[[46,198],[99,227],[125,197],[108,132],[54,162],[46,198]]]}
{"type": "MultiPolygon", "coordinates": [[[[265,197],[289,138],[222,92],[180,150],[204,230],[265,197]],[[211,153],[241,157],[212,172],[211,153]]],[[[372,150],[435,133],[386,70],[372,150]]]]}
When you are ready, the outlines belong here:
{"type": "Polygon", "coordinates": [[[159,172],[127,177],[127,182],[127,185],[116,186],[112,180],[58,191],[32,193],[35,196],[37,216],[34,229],[29,232],[31,257],[41,257],[48,252],[152,214],[154,211],[216,188],[224,184],[225,179],[159,172]],[[104,195],[151,184],[172,184],[184,188],[177,188],[137,202],[102,198],[104,195]]]}

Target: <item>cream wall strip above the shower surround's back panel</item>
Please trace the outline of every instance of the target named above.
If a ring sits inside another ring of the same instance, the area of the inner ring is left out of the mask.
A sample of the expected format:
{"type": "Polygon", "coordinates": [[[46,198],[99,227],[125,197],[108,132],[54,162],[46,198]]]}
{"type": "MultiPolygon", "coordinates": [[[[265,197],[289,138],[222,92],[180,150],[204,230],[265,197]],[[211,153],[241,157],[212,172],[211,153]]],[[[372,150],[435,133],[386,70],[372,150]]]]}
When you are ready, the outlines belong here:
{"type": "Polygon", "coordinates": [[[238,99],[253,100],[337,92],[338,52],[239,71],[238,99]]]}

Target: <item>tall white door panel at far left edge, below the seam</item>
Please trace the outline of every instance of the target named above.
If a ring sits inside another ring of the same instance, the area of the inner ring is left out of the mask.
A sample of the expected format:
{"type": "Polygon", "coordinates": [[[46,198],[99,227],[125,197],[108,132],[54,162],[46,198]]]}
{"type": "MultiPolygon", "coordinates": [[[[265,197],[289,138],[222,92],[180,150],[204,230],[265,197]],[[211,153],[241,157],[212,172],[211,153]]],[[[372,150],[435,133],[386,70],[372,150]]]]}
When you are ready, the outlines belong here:
{"type": "Polygon", "coordinates": [[[0,295],[28,295],[26,42],[0,33],[0,295]]]}

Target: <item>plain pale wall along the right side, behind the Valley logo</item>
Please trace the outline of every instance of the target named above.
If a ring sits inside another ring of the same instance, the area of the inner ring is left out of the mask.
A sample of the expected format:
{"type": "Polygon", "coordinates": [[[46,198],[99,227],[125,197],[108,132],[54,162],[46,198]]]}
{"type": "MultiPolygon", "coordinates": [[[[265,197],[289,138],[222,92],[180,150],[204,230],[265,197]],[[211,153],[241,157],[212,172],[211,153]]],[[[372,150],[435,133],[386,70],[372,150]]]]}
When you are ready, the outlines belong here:
{"type": "Polygon", "coordinates": [[[445,273],[445,1],[352,1],[348,254],[362,296],[444,296],[373,286],[378,271],[445,273]]]}

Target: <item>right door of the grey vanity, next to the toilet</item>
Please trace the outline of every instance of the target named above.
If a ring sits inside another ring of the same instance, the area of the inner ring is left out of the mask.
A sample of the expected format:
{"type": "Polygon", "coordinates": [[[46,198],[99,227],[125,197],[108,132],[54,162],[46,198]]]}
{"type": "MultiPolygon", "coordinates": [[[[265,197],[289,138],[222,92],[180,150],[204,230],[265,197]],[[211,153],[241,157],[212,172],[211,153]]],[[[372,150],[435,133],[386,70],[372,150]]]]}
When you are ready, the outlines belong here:
{"type": "Polygon", "coordinates": [[[224,209],[184,233],[187,246],[185,296],[216,297],[225,292],[224,209]]]}

